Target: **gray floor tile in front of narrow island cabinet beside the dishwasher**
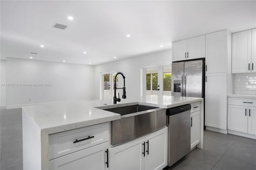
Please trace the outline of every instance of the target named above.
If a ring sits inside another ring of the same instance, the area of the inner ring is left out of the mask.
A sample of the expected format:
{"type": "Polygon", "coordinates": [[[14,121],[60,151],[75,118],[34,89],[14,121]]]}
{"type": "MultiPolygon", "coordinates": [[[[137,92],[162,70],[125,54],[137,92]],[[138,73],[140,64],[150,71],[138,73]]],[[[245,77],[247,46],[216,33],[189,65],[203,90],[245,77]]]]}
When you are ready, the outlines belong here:
{"type": "Polygon", "coordinates": [[[193,152],[191,152],[188,156],[191,158],[200,160],[206,164],[215,165],[218,160],[220,160],[221,156],[220,154],[216,154],[214,152],[210,152],[208,150],[204,149],[195,149],[193,152]]]}

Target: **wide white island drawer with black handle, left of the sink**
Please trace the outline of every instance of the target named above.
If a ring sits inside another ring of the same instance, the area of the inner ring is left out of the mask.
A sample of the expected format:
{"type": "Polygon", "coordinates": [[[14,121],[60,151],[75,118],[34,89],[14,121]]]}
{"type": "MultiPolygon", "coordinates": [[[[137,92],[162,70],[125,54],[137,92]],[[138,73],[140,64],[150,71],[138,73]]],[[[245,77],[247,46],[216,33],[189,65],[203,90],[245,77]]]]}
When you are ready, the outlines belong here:
{"type": "Polygon", "coordinates": [[[50,134],[49,160],[106,142],[108,136],[108,123],[50,134]],[[79,141],[81,139],[85,140],[79,141]],[[79,142],[75,142],[76,140],[79,142]]]}

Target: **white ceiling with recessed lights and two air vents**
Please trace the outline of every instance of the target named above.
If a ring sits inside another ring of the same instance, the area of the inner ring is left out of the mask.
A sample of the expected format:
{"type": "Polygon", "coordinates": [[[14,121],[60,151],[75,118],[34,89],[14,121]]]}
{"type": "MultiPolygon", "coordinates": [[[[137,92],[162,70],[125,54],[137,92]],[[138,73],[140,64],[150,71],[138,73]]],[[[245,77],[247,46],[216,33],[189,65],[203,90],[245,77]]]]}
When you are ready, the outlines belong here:
{"type": "Polygon", "coordinates": [[[1,59],[96,65],[171,49],[171,42],[210,32],[256,27],[255,0],[0,3],[1,59]],[[68,27],[53,28],[55,23],[68,27]]]}

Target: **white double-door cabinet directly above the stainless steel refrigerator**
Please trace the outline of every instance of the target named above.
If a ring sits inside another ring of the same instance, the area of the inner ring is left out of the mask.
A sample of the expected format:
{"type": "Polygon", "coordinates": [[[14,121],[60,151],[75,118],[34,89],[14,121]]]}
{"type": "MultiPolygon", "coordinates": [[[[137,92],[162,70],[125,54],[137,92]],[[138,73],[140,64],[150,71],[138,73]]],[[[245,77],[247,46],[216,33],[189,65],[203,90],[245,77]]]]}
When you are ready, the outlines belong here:
{"type": "Polygon", "coordinates": [[[172,43],[172,61],[205,57],[205,35],[172,43]]]}

